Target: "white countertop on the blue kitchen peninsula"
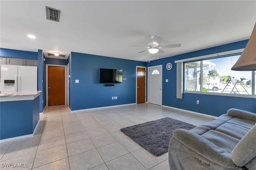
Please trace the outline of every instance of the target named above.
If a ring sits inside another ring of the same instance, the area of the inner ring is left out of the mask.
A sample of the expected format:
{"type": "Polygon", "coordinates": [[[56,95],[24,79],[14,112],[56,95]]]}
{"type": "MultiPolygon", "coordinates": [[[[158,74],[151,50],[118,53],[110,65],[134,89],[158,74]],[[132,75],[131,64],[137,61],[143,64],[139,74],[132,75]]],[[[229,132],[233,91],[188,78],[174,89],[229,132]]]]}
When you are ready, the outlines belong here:
{"type": "Polygon", "coordinates": [[[1,93],[0,102],[34,100],[40,95],[40,93],[42,93],[42,91],[20,91],[14,93],[1,93]]]}

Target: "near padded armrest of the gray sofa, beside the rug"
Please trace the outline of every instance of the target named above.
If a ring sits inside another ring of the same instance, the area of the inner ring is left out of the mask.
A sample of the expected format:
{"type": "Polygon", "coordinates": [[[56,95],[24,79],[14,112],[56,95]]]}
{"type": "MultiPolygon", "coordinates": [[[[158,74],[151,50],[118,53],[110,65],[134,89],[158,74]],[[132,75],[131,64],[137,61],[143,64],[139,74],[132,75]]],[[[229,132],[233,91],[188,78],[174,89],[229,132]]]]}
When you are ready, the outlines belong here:
{"type": "Polygon", "coordinates": [[[206,140],[202,136],[185,129],[176,129],[173,136],[186,147],[200,154],[204,158],[225,168],[237,168],[231,159],[231,154],[206,140]]]}

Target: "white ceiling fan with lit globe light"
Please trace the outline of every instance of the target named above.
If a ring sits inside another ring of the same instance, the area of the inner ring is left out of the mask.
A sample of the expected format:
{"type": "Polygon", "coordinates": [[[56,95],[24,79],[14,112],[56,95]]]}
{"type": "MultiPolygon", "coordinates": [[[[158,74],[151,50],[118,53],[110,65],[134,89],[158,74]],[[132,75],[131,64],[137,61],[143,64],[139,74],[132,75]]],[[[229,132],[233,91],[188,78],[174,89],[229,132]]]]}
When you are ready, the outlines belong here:
{"type": "Polygon", "coordinates": [[[148,43],[147,47],[146,46],[140,46],[140,45],[131,45],[131,46],[148,48],[148,49],[140,51],[138,53],[148,51],[152,54],[155,54],[157,52],[160,53],[160,54],[164,53],[164,51],[161,48],[174,48],[174,47],[180,47],[181,46],[181,43],[175,43],[175,44],[168,44],[168,45],[160,46],[160,43],[162,41],[161,38],[158,38],[157,36],[151,36],[151,39],[153,40],[153,42],[148,43]]]}

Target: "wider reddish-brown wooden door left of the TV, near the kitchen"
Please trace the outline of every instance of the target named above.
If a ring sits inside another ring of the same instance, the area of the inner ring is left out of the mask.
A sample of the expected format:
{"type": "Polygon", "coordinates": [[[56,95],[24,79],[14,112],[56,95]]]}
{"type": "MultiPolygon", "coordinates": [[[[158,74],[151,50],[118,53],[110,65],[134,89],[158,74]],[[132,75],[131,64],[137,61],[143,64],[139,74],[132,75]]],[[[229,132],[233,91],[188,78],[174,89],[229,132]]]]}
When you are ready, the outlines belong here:
{"type": "Polygon", "coordinates": [[[65,67],[48,66],[48,106],[65,105],[65,67]]]}

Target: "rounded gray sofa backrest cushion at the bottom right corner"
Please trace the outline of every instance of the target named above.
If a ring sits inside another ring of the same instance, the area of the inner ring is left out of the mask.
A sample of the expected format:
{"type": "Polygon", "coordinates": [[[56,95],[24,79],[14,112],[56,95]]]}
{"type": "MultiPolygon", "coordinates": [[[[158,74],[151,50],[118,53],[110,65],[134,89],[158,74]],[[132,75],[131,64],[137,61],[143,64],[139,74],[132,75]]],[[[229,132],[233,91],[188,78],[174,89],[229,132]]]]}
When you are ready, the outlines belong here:
{"type": "MultiPolygon", "coordinates": [[[[231,158],[237,166],[244,166],[256,157],[256,125],[238,142],[231,153],[231,158]]],[[[256,160],[255,160],[256,161],[256,160]]],[[[252,164],[256,165],[256,162],[252,164]]],[[[256,168],[256,167],[254,167],[256,168]]]]}

